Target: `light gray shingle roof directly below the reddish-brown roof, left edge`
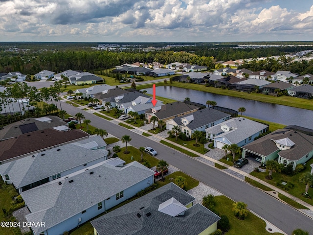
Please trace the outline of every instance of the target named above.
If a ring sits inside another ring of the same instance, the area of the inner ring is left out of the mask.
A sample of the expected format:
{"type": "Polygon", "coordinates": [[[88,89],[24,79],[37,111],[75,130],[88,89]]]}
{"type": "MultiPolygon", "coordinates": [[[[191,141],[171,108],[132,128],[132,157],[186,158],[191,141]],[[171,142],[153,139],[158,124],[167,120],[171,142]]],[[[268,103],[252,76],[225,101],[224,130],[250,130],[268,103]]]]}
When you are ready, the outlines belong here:
{"type": "MultiPolygon", "coordinates": [[[[92,142],[96,139],[98,137],[89,137],[89,139],[80,142],[92,142]]],[[[98,142],[100,141],[98,140],[98,142]]],[[[104,141],[102,140],[102,142],[104,141]]],[[[104,145],[104,143],[101,145],[104,145]]],[[[8,174],[15,187],[21,188],[107,155],[107,150],[91,150],[77,146],[77,143],[70,143],[34,154],[34,157],[30,155],[2,164],[0,165],[0,174],[8,174]],[[45,155],[42,156],[42,154],[45,155]]]]}

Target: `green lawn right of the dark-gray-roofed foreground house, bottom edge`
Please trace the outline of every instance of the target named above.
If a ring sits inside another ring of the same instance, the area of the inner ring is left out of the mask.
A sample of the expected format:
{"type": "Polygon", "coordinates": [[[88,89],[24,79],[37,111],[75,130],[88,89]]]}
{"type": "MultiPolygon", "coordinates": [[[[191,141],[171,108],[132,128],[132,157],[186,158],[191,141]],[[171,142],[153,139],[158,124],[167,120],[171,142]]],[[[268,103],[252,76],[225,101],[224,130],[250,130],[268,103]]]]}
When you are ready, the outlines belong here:
{"type": "Polygon", "coordinates": [[[249,212],[246,219],[237,219],[232,211],[234,201],[228,197],[215,196],[214,199],[216,201],[216,211],[218,211],[220,215],[226,215],[229,219],[230,229],[226,233],[227,235],[280,235],[280,233],[268,233],[265,230],[265,221],[251,212],[249,212]]]}

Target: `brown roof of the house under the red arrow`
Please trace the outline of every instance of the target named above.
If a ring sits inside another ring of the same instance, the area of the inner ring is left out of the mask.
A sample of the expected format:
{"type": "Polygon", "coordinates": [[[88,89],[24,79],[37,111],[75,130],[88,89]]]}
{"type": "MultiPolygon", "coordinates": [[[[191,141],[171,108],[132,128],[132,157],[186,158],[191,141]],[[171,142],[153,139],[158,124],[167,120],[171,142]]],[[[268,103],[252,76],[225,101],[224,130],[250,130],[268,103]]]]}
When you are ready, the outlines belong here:
{"type": "MultiPolygon", "coordinates": [[[[196,111],[199,107],[192,105],[192,104],[186,104],[180,101],[165,104],[162,106],[162,108],[155,113],[155,116],[158,119],[165,119],[170,118],[175,115],[183,114],[185,112],[190,112],[192,110],[196,111]]],[[[150,112],[152,113],[152,112],[150,112]]]]}

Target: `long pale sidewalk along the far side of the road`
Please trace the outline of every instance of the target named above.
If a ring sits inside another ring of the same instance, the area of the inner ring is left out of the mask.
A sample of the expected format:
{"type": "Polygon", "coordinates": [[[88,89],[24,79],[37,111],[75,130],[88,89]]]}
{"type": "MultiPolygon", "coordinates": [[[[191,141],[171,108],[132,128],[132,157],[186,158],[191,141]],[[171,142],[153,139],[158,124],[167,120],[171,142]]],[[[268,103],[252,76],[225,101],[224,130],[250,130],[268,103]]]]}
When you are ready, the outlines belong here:
{"type": "MultiPolygon", "coordinates": [[[[63,99],[62,101],[65,102],[65,101],[67,101],[67,100],[64,100],[64,99],[63,99]]],[[[85,108],[85,107],[84,107],[84,108],[85,108]]],[[[86,106],[86,108],[88,108],[88,107],[86,106]]],[[[89,109],[89,110],[90,110],[90,109],[89,109]]],[[[112,117],[107,116],[107,115],[105,115],[105,114],[103,114],[103,113],[100,113],[100,111],[98,111],[98,110],[92,110],[92,111],[93,111],[93,112],[90,112],[90,113],[98,113],[98,114],[100,114],[100,115],[102,115],[102,116],[105,116],[105,117],[108,117],[108,118],[112,118],[112,117]]],[[[86,112],[88,112],[88,111],[86,111],[86,112]]],[[[131,124],[128,124],[127,122],[125,122],[125,121],[123,121],[123,120],[113,119],[111,122],[112,122],[113,124],[124,123],[125,125],[128,125],[128,126],[130,126],[130,127],[133,127],[134,129],[129,129],[129,130],[130,130],[130,131],[133,131],[133,132],[135,132],[135,133],[137,133],[137,134],[142,134],[143,132],[145,132],[145,133],[151,135],[151,136],[149,136],[149,137],[147,137],[147,138],[149,138],[149,139],[151,139],[151,140],[153,140],[153,141],[159,142],[159,141],[163,140],[163,141],[167,141],[167,142],[169,142],[169,143],[171,143],[171,144],[177,145],[177,143],[174,142],[174,141],[169,141],[169,140],[165,139],[164,137],[158,136],[158,135],[156,135],[156,134],[153,134],[153,133],[151,133],[151,132],[148,132],[147,130],[143,130],[142,128],[139,128],[139,127],[133,126],[133,125],[131,125],[131,124]]],[[[167,146],[167,147],[169,147],[169,146],[167,146]]],[[[228,175],[230,175],[230,176],[232,176],[232,177],[235,177],[235,178],[240,179],[240,180],[242,180],[242,181],[245,181],[244,177],[248,177],[248,178],[250,178],[250,179],[252,179],[252,180],[254,180],[254,181],[256,181],[256,182],[259,182],[259,183],[262,184],[262,185],[267,186],[268,188],[271,188],[272,191],[264,191],[264,190],[263,190],[263,191],[266,192],[266,193],[268,193],[269,195],[271,195],[271,196],[277,198],[278,200],[280,200],[279,197],[278,197],[278,193],[287,196],[288,198],[292,199],[293,201],[296,201],[297,203],[299,203],[299,204],[301,204],[301,205],[307,207],[310,211],[308,211],[309,213],[306,213],[306,212],[304,212],[304,211],[307,211],[307,210],[303,210],[303,209],[296,209],[296,210],[298,210],[298,211],[300,211],[300,212],[302,212],[302,213],[304,213],[304,214],[310,216],[311,218],[313,218],[313,206],[310,205],[310,204],[308,204],[308,203],[306,203],[306,202],[304,202],[304,201],[302,201],[301,199],[299,199],[299,198],[297,198],[297,197],[295,197],[295,196],[289,194],[288,192],[286,192],[286,191],[284,191],[284,190],[282,190],[282,189],[280,189],[280,188],[277,188],[277,187],[275,187],[275,186],[273,186],[273,185],[271,185],[271,184],[268,184],[267,182],[262,181],[262,180],[260,180],[260,179],[258,179],[258,178],[256,178],[256,177],[254,177],[254,176],[252,176],[252,175],[250,175],[250,174],[248,174],[248,173],[246,173],[246,172],[244,172],[244,171],[242,171],[242,170],[240,170],[240,169],[238,169],[238,168],[236,168],[236,167],[233,167],[233,166],[229,166],[229,165],[227,165],[227,164],[224,164],[224,163],[222,163],[222,162],[220,162],[220,161],[218,161],[218,160],[216,160],[216,159],[213,159],[213,158],[211,158],[211,157],[209,157],[209,156],[206,156],[206,155],[204,155],[204,154],[201,154],[201,153],[199,153],[199,152],[197,152],[197,151],[194,151],[194,150],[192,150],[192,149],[186,148],[185,146],[179,145],[179,147],[182,148],[182,149],[184,149],[184,150],[187,150],[187,151],[189,151],[189,152],[192,152],[192,153],[198,155],[199,157],[201,157],[201,158],[207,160],[207,162],[204,162],[204,161],[199,160],[199,159],[196,158],[196,157],[194,158],[195,160],[200,161],[200,162],[203,163],[203,164],[207,164],[207,165],[210,165],[210,166],[213,167],[214,164],[217,163],[217,164],[223,165],[223,166],[226,167],[228,170],[231,170],[231,171],[237,173],[237,174],[231,174],[231,173],[229,173],[229,172],[223,170],[226,174],[228,174],[228,175]],[[243,176],[243,177],[238,177],[238,176],[236,176],[236,175],[240,175],[240,176],[243,176]]],[[[170,147],[169,147],[169,148],[170,148],[170,147]]],[[[177,151],[178,151],[178,150],[177,150],[177,151]]],[[[219,170],[220,170],[220,169],[219,169],[219,170]]],[[[262,189],[260,189],[260,190],[262,190],[262,189]]],[[[280,200],[280,201],[282,201],[282,200],[280,200]]],[[[282,202],[285,203],[284,201],[282,201],[282,202]]]]}

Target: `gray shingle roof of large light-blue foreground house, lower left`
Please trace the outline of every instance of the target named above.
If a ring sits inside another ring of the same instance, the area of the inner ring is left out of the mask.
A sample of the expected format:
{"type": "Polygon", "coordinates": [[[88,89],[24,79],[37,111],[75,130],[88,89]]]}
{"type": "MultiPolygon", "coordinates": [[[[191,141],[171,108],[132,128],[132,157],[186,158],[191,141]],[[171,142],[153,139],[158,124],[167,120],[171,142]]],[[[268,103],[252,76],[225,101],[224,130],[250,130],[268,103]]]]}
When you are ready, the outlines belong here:
{"type": "Polygon", "coordinates": [[[137,162],[123,167],[104,162],[94,168],[89,167],[87,171],[83,169],[67,179],[60,178],[22,192],[22,198],[31,211],[25,217],[27,221],[45,221],[45,227],[32,227],[35,233],[41,233],[109,197],[115,197],[116,193],[154,173],[137,162]],[[94,173],[89,174],[91,171],[94,173]],[[73,182],[69,183],[71,180],[73,182]]]}

